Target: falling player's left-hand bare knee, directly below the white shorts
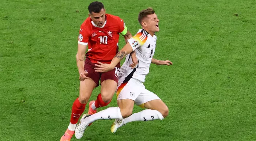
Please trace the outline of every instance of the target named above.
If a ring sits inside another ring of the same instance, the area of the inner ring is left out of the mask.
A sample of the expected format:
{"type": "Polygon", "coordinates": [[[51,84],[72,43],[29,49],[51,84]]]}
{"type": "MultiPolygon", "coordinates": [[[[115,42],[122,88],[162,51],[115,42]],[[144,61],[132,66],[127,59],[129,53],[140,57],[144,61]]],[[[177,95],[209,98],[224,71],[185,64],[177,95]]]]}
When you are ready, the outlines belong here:
{"type": "Polygon", "coordinates": [[[120,108],[123,118],[129,117],[132,114],[134,101],[131,99],[117,100],[117,105],[120,108]]]}

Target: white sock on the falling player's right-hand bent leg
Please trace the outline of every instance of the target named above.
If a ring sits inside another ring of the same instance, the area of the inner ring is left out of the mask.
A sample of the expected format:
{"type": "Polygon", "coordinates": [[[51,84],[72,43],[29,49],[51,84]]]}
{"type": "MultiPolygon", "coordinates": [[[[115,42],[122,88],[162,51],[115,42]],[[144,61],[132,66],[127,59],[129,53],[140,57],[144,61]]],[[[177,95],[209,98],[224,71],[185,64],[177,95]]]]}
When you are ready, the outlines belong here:
{"type": "Polygon", "coordinates": [[[160,112],[157,110],[146,109],[124,118],[124,123],[126,124],[132,121],[151,121],[157,119],[163,120],[163,116],[160,112]]]}

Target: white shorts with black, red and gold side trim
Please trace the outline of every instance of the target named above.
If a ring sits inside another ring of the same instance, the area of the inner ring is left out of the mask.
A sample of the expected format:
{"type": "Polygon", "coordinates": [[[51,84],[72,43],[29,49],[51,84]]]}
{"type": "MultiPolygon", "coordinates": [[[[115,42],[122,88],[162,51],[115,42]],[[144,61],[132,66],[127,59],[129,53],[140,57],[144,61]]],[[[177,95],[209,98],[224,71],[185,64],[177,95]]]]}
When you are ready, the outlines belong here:
{"type": "Polygon", "coordinates": [[[136,105],[144,108],[144,103],[160,99],[156,94],[145,88],[143,82],[131,78],[128,82],[118,86],[116,91],[117,100],[131,99],[136,105]]]}

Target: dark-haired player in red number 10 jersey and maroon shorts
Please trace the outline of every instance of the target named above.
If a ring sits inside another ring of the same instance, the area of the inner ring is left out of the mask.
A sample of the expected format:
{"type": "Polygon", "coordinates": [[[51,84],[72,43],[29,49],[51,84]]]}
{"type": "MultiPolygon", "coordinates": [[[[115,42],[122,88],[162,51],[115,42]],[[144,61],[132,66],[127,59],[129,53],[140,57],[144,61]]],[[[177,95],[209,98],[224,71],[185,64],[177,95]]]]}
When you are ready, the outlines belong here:
{"type": "MultiPolygon", "coordinates": [[[[88,114],[94,114],[97,108],[107,106],[110,103],[117,89],[120,63],[112,71],[105,73],[95,72],[95,64],[97,62],[111,63],[118,52],[119,34],[124,36],[126,42],[132,37],[124,21],[118,16],[106,14],[102,3],[94,1],[89,5],[88,10],[89,17],[80,27],[76,54],[80,74],[79,97],[72,106],[68,129],[60,141],[71,140],[79,117],[84,112],[93,89],[99,86],[99,80],[101,80],[101,93],[98,94],[95,101],[89,103],[88,114]],[[87,53],[86,47],[88,47],[87,53]],[[84,56],[86,56],[85,60],[84,56]]],[[[138,62],[135,54],[132,55],[132,60],[134,61],[131,67],[135,67],[138,62]]]]}

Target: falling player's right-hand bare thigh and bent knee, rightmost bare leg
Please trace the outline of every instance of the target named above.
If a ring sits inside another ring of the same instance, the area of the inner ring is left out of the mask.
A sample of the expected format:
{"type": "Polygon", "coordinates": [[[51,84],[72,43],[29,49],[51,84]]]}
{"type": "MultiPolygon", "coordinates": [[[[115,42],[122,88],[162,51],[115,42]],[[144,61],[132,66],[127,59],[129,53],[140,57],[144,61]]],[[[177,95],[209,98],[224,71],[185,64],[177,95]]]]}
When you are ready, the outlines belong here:
{"type": "Polygon", "coordinates": [[[148,102],[144,103],[144,106],[147,109],[157,110],[158,112],[160,112],[163,115],[163,117],[167,117],[169,114],[169,109],[168,109],[167,105],[160,99],[148,101],[148,102]]]}

